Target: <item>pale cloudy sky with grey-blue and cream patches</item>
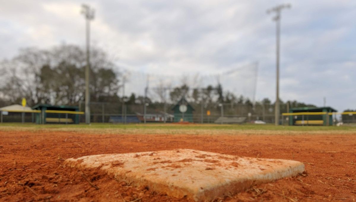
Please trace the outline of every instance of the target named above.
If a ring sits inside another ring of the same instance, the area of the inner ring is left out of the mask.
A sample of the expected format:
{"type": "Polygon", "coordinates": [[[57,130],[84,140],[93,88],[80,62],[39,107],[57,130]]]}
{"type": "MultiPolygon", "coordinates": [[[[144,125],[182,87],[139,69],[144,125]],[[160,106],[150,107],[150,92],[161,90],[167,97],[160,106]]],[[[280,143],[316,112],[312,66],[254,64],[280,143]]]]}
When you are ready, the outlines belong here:
{"type": "Polygon", "coordinates": [[[281,99],[323,106],[326,97],[326,105],[339,111],[356,109],[353,0],[0,2],[0,59],[24,47],[84,46],[80,6],[85,3],[95,9],[91,43],[118,58],[121,69],[208,75],[258,62],[256,99],[272,101],[276,23],[266,10],[290,3],[281,21],[281,99]]]}

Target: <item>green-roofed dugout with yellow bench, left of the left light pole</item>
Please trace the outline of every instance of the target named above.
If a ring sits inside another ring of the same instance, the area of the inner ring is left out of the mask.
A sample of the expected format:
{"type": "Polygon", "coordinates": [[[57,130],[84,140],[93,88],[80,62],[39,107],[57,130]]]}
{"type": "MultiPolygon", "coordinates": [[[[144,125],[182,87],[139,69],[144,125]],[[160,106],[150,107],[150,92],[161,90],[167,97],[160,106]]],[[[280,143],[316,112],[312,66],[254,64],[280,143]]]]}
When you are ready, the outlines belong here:
{"type": "Polygon", "coordinates": [[[36,114],[36,123],[62,123],[62,124],[79,124],[79,107],[77,106],[54,106],[46,104],[38,104],[32,107],[33,110],[41,110],[41,113],[36,114]]]}

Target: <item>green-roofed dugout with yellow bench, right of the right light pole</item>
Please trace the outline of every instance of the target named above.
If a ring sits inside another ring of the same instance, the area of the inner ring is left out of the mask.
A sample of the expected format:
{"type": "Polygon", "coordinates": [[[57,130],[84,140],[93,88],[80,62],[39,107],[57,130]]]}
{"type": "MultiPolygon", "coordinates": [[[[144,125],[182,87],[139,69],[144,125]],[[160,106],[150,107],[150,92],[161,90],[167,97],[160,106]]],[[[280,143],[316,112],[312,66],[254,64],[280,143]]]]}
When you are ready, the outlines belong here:
{"type": "Polygon", "coordinates": [[[289,126],[322,125],[332,126],[333,118],[330,112],[337,112],[331,107],[297,107],[290,108],[288,115],[289,126]]]}

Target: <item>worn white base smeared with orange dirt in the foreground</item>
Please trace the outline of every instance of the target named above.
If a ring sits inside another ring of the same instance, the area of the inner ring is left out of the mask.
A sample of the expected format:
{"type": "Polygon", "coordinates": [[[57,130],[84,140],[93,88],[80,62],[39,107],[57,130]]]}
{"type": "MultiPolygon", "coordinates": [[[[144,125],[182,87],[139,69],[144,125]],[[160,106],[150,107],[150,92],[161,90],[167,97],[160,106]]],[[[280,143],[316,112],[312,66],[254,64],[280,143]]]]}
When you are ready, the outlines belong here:
{"type": "Polygon", "coordinates": [[[304,164],[298,161],[192,149],[90,155],[67,159],[64,165],[78,169],[99,168],[118,181],[197,202],[232,195],[304,171],[304,164]]]}

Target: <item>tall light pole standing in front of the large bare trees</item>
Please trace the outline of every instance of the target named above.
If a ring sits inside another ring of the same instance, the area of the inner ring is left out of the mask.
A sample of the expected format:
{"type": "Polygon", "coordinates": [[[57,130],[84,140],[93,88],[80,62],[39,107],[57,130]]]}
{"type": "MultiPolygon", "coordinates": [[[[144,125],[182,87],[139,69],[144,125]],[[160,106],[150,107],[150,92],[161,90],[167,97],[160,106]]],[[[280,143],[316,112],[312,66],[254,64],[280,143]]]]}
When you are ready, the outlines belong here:
{"type": "Polygon", "coordinates": [[[90,124],[90,91],[89,91],[89,74],[90,74],[90,20],[94,19],[94,9],[90,6],[82,5],[82,14],[85,17],[86,32],[87,32],[87,66],[85,67],[85,123],[90,124]]]}

